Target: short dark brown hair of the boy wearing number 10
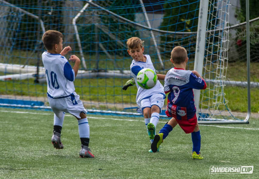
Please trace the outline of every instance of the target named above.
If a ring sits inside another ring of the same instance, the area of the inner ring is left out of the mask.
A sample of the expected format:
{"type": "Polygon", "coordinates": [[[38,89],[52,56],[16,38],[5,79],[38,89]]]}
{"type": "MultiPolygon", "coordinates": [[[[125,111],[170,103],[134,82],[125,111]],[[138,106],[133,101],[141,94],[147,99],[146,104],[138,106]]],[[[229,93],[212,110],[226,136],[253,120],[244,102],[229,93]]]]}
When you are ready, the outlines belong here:
{"type": "Polygon", "coordinates": [[[54,45],[60,42],[60,37],[63,38],[63,34],[56,30],[48,30],[42,36],[42,42],[47,50],[52,50],[54,45]]]}

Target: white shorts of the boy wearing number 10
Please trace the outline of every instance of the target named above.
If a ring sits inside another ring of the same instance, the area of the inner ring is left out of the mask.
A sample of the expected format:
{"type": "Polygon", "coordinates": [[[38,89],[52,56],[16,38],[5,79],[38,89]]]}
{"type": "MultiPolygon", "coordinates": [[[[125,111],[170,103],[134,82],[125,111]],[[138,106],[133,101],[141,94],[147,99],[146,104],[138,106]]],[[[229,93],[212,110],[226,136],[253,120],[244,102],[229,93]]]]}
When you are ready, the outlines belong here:
{"type": "Polygon", "coordinates": [[[75,91],[66,98],[51,98],[48,96],[48,100],[51,109],[58,118],[61,118],[63,112],[67,112],[78,119],[81,118],[81,112],[87,113],[82,101],[79,99],[79,95],[75,91]]]}

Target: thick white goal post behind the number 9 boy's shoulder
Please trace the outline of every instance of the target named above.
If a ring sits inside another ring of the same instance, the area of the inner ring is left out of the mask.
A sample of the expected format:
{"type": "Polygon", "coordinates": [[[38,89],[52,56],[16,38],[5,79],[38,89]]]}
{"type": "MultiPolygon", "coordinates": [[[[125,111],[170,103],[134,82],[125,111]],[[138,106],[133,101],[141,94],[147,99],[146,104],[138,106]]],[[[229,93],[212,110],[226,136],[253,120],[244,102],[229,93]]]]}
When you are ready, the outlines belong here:
{"type": "MultiPolygon", "coordinates": [[[[202,75],[202,67],[203,67],[204,52],[205,52],[205,38],[206,38],[208,8],[209,8],[209,0],[201,0],[200,9],[199,9],[196,49],[195,49],[195,61],[194,61],[194,70],[197,71],[200,75],[202,75]]],[[[196,107],[196,115],[198,118],[201,90],[193,89],[193,91],[194,91],[194,104],[196,107]]]]}

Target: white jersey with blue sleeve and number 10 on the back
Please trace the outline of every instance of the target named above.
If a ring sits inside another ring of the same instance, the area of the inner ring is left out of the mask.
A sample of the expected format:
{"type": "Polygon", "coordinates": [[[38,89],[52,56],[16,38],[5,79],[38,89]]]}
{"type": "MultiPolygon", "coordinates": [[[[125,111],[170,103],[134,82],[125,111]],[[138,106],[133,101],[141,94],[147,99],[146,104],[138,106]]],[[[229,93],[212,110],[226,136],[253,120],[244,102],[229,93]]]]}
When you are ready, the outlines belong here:
{"type": "Polygon", "coordinates": [[[66,57],[48,52],[42,53],[50,98],[64,98],[74,91],[75,72],[66,57]]]}

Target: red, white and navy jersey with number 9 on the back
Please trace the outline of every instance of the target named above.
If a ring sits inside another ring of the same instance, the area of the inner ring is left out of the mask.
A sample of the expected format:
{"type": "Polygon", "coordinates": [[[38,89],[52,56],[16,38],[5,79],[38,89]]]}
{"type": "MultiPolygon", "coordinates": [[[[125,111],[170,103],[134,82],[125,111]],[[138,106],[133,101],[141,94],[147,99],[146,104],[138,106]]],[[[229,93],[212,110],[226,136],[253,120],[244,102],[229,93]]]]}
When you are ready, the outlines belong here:
{"type": "Polygon", "coordinates": [[[205,81],[189,70],[172,68],[165,76],[164,91],[168,93],[168,117],[175,119],[192,119],[196,113],[192,89],[205,89],[205,81]]]}

